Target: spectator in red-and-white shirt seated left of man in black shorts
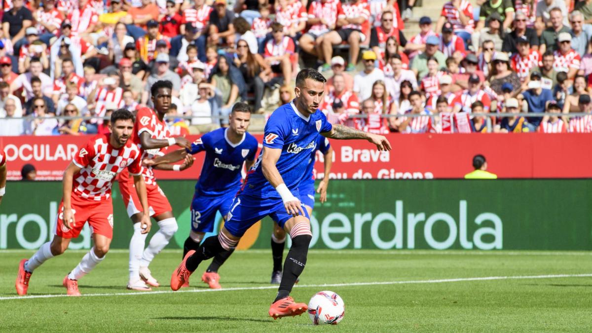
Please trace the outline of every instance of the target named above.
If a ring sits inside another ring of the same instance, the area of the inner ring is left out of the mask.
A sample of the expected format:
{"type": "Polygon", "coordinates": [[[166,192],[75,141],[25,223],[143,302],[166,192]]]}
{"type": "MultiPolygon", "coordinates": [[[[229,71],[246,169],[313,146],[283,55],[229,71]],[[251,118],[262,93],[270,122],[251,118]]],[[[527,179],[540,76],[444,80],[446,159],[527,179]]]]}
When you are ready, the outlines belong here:
{"type": "Polygon", "coordinates": [[[335,29],[340,12],[343,12],[340,1],[314,0],[308,8],[307,24],[310,28],[300,37],[299,44],[304,52],[317,57],[318,66],[324,64],[323,37],[335,29]]]}

